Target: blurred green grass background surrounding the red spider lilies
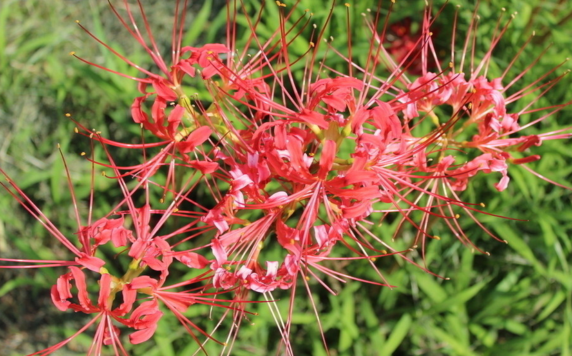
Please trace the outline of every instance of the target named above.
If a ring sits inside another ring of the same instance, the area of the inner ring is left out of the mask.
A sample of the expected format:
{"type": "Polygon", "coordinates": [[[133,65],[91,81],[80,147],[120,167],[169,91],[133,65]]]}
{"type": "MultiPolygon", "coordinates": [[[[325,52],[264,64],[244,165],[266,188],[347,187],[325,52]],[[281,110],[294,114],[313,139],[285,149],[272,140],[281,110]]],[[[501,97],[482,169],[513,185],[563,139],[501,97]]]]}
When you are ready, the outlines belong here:
{"type": "MultiPolygon", "coordinates": [[[[301,1],[300,9],[310,8],[315,12],[315,21],[320,23],[329,2],[316,3],[301,1]]],[[[397,1],[391,21],[405,17],[419,19],[423,3],[397,1]]],[[[439,8],[441,1],[435,3],[439,8]]],[[[523,86],[532,83],[564,61],[572,48],[572,22],[568,21],[572,10],[567,3],[481,1],[479,52],[488,45],[502,7],[506,8],[505,18],[518,12],[495,51],[490,72],[493,75],[502,72],[533,30],[535,39],[524,49],[508,78],[524,70],[549,43],[553,46],[519,83],[523,86]]],[[[172,2],[144,1],[144,4],[155,38],[169,48],[172,2]]],[[[437,42],[443,41],[444,46],[450,38],[448,31],[457,4],[461,5],[459,38],[464,38],[462,33],[472,16],[473,1],[451,1],[436,23],[440,29],[437,35],[443,36],[437,42]]],[[[274,3],[267,5],[271,7],[274,3]]],[[[343,4],[339,7],[343,8],[343,4]]],[[[364,37],[368,30],[361,12],[367,12],[367,6],[352,4],[356,51],[367,48],[369,41],[369,37],[364,37]]],[[[80,57],[113,70],[132,75],[137,75],[137,71],[97,46],[75,24],[76,19],[113,48],[120,48],[131,60],[150,66],[149,58],[122,30],[106,1],[3,0],[0,3],[0,166],[37,201],[60,230],[70,235],[75,233],[73,207],[56,144],[65,152],[80,199],[88,194],[90,165],[78,155],[89,150],[87,141],[75,137],[75,125],[64,114],[70,112],[89,128],[101,130],[104,137],[118,141],[138,132],[129,115],[131,101],[137,96],[135,82],[88,66],[70,57],[68,52],[75,51],[80,57]]],[[[224,3],[193,2],[189,6],[184,45],[223,41],[225,21],[224,3]]],[[[275,20],[263,17],[261,29],[274,26],[275,20]]],[[[330,32],[344,46],[345,10],[336,10],[330,32]]],[[[566,63],[549,79],[568,68],[566,63]]],[[[565,77],[537,106],[572,99],[570,83],[571,77],[565,77]]],[[[571,114],[572,110],[565,108],[546,119],[538,130],[546,132],[571,126],[571,114]]],[[[531,168],[549,179],[571,185],[569,147],[570,141],[563,140],[535,148],[542,160],[531,164],[531,168]]],[[[426,264],[435,273],[450,277],[449,281],[395,259],[380,261],[379,266],[388,281],[399,288],[348,283],[334,297],[314,285],[314,299],[321,311],[330,355],[572,355],[570,192],[518,167],[512,168],[510,175],[511,184],[504,192],[493,188],[498,177],[478,177],[473,188],[463,195],[468,201],[486,202],[487,211],[528,220],[481,217],[490,230],[509,241],[508,245],[490,239],[469,219],[462,221],[475,244],[491,253],[487,257],[462,246],[450,236],[446,226],[435,227],[441,241],[428,244],[426,264]]],[[[97,193],[116,197],[117,192],[107,191],[110,186],[113,184],[100,184],[97,193]]],[[[108,208],[100,207],[102,212],[108,208]]],[[[376,233],[391,235],[394,227],[387,224],[376,233]]],[[[59,253],[61,248],[44,228],[1,190],[0,255],[52,258],[59,253]]],[[[367,264],[350,264],[345,270],[376,279],[367,264]]],[[[71,335],[88,320],[83,315],[61,313],[52,305],[49,288],[61,273],[61,269],[0,270],[1,353],[23,355],[46,348],[71,335]]],[[[298,355],[325,355],[312,309],[303,294],[296,299],[299,306],[292,336],[295,350],[298,355]]],[[[278,304],[286,302],[284,298],[278,304]]],[[[275,352],[278,334],[274,321],[267,306],[259,305],[258,311],[260,315],[250,319],[252,325],[243,323],[240,341],[232,355],[275,352]]],[[[199,324],[207,327],[212,324],[200,311],[193,309],[189,313],[199,324]]],[[[93,334],[77,337],[55,355],[85,354],[90,335],[93,334]]],[[[224,337],[224,333],[221,335],[224,337]]],[[[145,355],[191,355],[196,349],[178,322],[167,317],[149,343],[133,347],[133,354],[144,351],[145,355]]],[[[218,346],[207,344],[207,350],[216,355],[218,346]]]]}

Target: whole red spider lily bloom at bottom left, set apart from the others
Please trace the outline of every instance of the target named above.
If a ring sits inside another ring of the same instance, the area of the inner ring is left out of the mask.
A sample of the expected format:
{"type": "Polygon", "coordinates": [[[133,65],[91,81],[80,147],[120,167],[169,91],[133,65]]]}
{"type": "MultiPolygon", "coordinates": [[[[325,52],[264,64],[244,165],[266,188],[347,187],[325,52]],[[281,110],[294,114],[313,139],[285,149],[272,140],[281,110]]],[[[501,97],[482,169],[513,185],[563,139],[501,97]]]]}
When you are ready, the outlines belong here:
{"type": "MultiPolygon", "coordinates": [[[[97,140],[102,141],[100,137],[97,138],[97,140]]],[[[109,158],[111,159],[111,157],[109,158]]],[[[111,159],[111,166],[113,165],[113,160],[111,159]]],[[[173,264],[175,259],[181,261],[184,266],[198,269],[207,267],[209,261],[202,255],[198,255],[198,253],[193,253],[189,250],[179,249],[178,251],[173,251],[172,246],[167,242],[167,240],[173,241],[173,244],[182,246],[181,244],[184,240],[176,241],[175,239],[179,235],[192,230],[193,226],[197,224],[200,215],[196,220],[191,221],[190,224],[179,226],[178,229],[172,233],[159,236],[157,235],[157,231],[165,223],[166,217],[172,215],[185,216],[184,211],[178,210],[178,204],[180,203],[172,204],[171,208],[162,211],[152,210],[149,203],[142,206],[142,208],[135,208],[132,197],[137,190],[142,189],[143,182],[146,180],[140,181],[135,188],[130,190],[127,188],[124,179],[117,179],[124,192],[124,200],[113,208],[115,214],[120,215],[118,219],[103,217],[102,219],[92,222],[91,212],[93,209],[90,207],[88,224],[84,226],[79,222],[79,212],[77,212],[76,208],[79,226],[75,234],[77,240],[73,241],[66,238],[66,234],[61,233],[55,225],[50,222],[33,201],[6,175],[6,172],[1,169],[0,172],[8,179],[8,184],[10,184],[10,186],[7,186],[2,183],[3,188],[6,188],[6,190],[21,203],[23,208],[26,208],[55,238],[59,239],[63,246],[76,255],[75,259],[71,259],[70,261],[1,258],[1,261],[12,262],[18,265],[0,266],[0,268],[68,266],[70,272],[61,275],[51,291],[55,306],[62,311],[71,309],[75,312],[94,315],[93,319],[84,327],[80,328],[74,335],[32,355],[48,355],[54,353],[96,322],[97,331],[93,344],[88,350],[88,355],[99,355],[104,345],[111,346],[116,355],[127,355],[126,348],[122,345],[120,339],[120,328],[118,328],[117,324],[124,326],[124,328],[135,330],[129,335],[129,340],[131,344],[140,344],[149,339],[155,332],[157,322],[163,315],[163,312],[159,309],[160,304],[166,305],[175,315],[178,315],[182,324],[189,330],[191,336],[196,339],[200,345],[201,341],[196,337],[193,330],[199,331],[209,339],[213,339],[213,337],[191,322],[189,318],[184,317],[182,313],[189,306],[197,303],[231,310],[236,309],[236,307],[221,304],[224,303],[224,300],[216,298],[217,295],[225,293],[225,291],[204,293],[202,290],[208,289],[208,284],[191,294],[189,294],[189,292],[170,291],[173,288],[180,288],[180,286],[188,284],[200,284],[204,279],[210,279],[209,270],[203,273],[202,276],[188,279],[173,286],[164,286],[166,277],[169,275],[169,270],[171,269],[171,264],[173,264]],[[123,205],[126,205],[128,210],[119,210],[123,205]],[[159,214],[162,217],[153,228],[151,227],[152,214],[159,214]],[[125,227],[126,216],[133,220],[134,230],[129,230],[125,227]],[[105,268],[106,261],[100,257],[95,257],[98,250],[105,248],[106,244],[110,242],[115,247],[126,248],[128,250],[127,255],[132,258],[126,268],[126,273],[121,277],[110,275],[105,268]],[[77,248],[76,245],[80,245],[81,248],[77,248]],[[24,265],[22,265],[22,263],[24,263],[24,265]],[[101,275],[99,281],[95,284],[88,283],[84,268],[101,275]],[[155,270],[160,273],[159,278],[151,279],[149,276],[142,275],[147,269],[155,270]],[[94,285],[99,289],[97,303],[93,303],[88,297],[88,288],[92,288],[94,285]],[[73,293],[72,290],[73,286],[74,289],[77,290],[75,293],[73,293]],[[115,301],[115,295],[117,294],[122,295],[120,305],[117,305],[115,301]],[[154,299],[152,301],[137,302],[136,299],[141,297],[141,294],[146,297],[154,297],[154,299]],[[191,295],[194,295],[194,297],[189,297],[191,295]],[[192,329],[188,328],[189,325],[192,326],[192,329]]],[[[69,185],[72,196],[74,196],[70,180],[69,185]]],[[[144,189],[148,190],[149,184],[147,184],[144,189]]],[[[189,192],[187,192],[187,194],[189,192]]],[[[149,199],[149,197],[147,199],[149,199]]],[[[185,199],[188,201],[186,195],[179,195],[178,199],[180,199],[180,201],[185,201],[185,199]]],[[[93,202],[94,197],[92,196],[90,197],[90,204],[93,204],[93,202]]],[[[111,213],[108,216],[111,216],[111,213]]],[[[189,237],[186,239],[189,239],[189,237]]],[[[240,300],[229,301],[229,304],[241,303],[242,301],[240,300]]],[[[245,312],[242,308],[242,313],[248,312],[245,312]]]]}

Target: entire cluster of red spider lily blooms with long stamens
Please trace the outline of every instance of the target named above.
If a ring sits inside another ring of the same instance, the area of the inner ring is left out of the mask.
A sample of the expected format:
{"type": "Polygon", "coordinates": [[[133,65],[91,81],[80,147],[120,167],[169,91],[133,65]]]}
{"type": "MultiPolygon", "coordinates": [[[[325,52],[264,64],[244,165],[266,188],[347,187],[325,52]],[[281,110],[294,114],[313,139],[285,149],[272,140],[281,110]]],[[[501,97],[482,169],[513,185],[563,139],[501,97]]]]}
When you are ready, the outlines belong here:
{"type": "MultiPolygon", "coordinates": [[[[97,323],[89,355],[99,355],[104,345],[126,355],[122,329],[130,330],[131,343],[145,342],[165,310],[199,344],[200,335],[220,342],[185,317],[193,304],[224,308],[220,323],[231,315],[231,333],[220,344],[232,344],[249,313],[247,303],[256,300],[252,296],[264,293],[271,300],[274,290],[288,290],[292,298],[285,320],[277,320],[280,342],[292,354],[289,328],[297,286],[309,289],[314,279],[335,293],[324,276],[387,285],[381,271],[379,281],[366,281],[332,268],[331,262],[361,260],[377,270],[376,259],[393,255],[417,265],[411,251],[421,246],[423,254],[427,239],[439,239],[430,231],[430,219],[441,219],[476,248],[459,216],[495,237],[477,219],[493,214],[478,201],[463,201],[459,192],[475,175],[489,173],[498,177],[495,188],[502,191],[510,181],[509,167],[540,159],[534,146],[570,137],[565,131],[522,132],[566,104],[541,111],[528,100],[517,112],[508,109],[533,92],[541,97],[562,76],[545,81],[551,75],[546,73],[524,87],[522,75],[506,83],[509,68],[501,77],[488,78],[493,49],[510,21],[497,28],[475,63],[475,23],[460,43],[460,54],[442,59],[430,32],[436,18],[432,9],[426,9],[417,34],[400,35],[409,43],[406,53],[386,46],[388,26],[376,25],[382,22],[378,9],[374,18],[365,17],[370,47],[367,59],[359,61],[352,56],[351,40],[341,52],[324,38],[329,18],[313,27],[309,12],[279,1],[267,4],[277,6],[280,15],[276,30],[266,37],[257,34],[260,16],[247,17],[249,36],[238,48],[237,17],[247,10],[230,1],[226,43],[182,46],[184,3],[175,10],[172,63],[167,64],[139,5],[149,37],[140,32],[126,1],[126,16],[111,9],[158,72],[100,42],[143,75],[117,73],[140,84],[142,95],[134,99],[131,115],[144,142],[111,141],[77,123],[77,132],[107,152],[108,162],[93,156],[90,161],[113,170],[108,178],[117,180],[123,199],[105,217],[90,215],[87,224],[78,214],[77,232],[66,235],[14,182],[3,184],[75,257],[2,260],[67,266],[51,297],[59,310],[94,315],[77,332],[97,323]],[[307,50],[296,55],[292,48],[301,39],[307,50]],[[332,54],[345,61],[344,71],[329,66],[332,54]],[[187,83],[201,83],[209,97],[188,92],[187,83]],[[538,112],[533,121],[519,121],[538,112]],[[116,164],[110,146],[140,150],[142,160],[116,164]],[[160,190],[162,199],[153,201],[151,190],[160,190]],[[198,198],[197,192],[208,198],[198,198]],[[399,226],[410,224],[417,231],[406,250],[392,247],[397,233],[379,236],[370,229],[381,223],[379,217],[396,216],[399,226]],[[110,272],[110,261],[99,253],[103,246],[128,256],[123,274],[110,272]],[[171,281],[170,273],[181,268],[193,277],[171,281]]],[[[349,4],[334,4],[332,12],[336,8],[351,11],[349,4]]],[[[317,310],[316,317],[319,321],[317,310]]],[[[53,353],[75,335],[34,355],[53,353]]]]}

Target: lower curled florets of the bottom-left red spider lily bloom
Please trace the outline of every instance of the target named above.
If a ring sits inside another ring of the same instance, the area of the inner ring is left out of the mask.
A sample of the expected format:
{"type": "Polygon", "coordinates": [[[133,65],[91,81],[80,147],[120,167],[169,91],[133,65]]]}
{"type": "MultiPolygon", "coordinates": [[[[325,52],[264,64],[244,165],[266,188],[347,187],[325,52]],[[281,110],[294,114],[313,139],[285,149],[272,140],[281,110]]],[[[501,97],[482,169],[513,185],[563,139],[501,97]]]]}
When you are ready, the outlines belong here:
{"type": "MultiPolygon", "coordinates": [[[[120,353],[122,355],[126,355],[126,350],[124,346],[122,346],[120,340],[120,328],[117,328],[117,326],[114,325],[114,322],[115,324],[122,324],[123,326],[135,330],[129,335],[129,341],[131,344],[140,344],[148,340],[153,336],[153,333],[155,333],[157,323],[163,315],[162,311],[159,309],[159,303],[164,304],[172,313],[175,314],[175,316],[180,320],[182,326],[187,329],[189,334],[196,340],[196,342],[198,342],[198,344],[200,344],[200,340],[196,337],[194,331],[198,331],[208,339],[215,339],[182,314],[187,310],[187,308],[189,308],[189,306],[193,304],[207,304],[209,306],[218,306],[229,308],[231,310],[235,309],[232,306],[222,304],[225,300],[216,298],[216,295],[221,294],[220,292],[204,293],[202,290],[207,287],[201,287],[200,290],[197,291],[169,291],[170,289],[179,288],[187,284],[196,284],[203,280],[204,277],[197,277],[196,279],[187,280],[173,286],[162,286],[162,281],[158,281],[149,276],[135,277],[131,281],[126,281],[124,279],[111,277],[111,275],[108,275],[107,273],[102,273],[102,277],[99,280],[99,298],[97,305],[94,305],[88,297],[86,289],[88,284],[86,284],[86,279],[82,270],[75,266],[71,266],[70,270],[70,273],[66,273],[59,277],[57,284],[52,288],[51,295],[54,304],[59,308],[59,310],[65,311],[72,309],[75,312],[95,314],[95,317],[93,317],[92,321],[86,324],[85,328],[99,319],[97,333],[94,338],[92,348],[88,351],[88,355],[91,355],[92,353],[95,355],[101,353],[102,346],[104,345],[113,345],[117,355],[120,353]],[[77,299],[79,300],[78,304],[70,301],[73,297],[73,294],[71,293],[71,281],[75,281],[77,299]],[[114,308],[114,296],[119,292],[122,293],[122,303],[114,308]],[[153,300],[143,301],[139,306],[137,306],[137,308],[131,310],[135,303],[137,294],[140,293],[151,295],[153,300]]],[[[236,303],[237,301],[233,300],[227,302],[236,303]]],[[[64,342],[50,348],[46,348],[45,350],[39,351],[33,355],[48,355],[49,353],[53,353],[83,331],[84,328],[80,329],[75,335],[68,337],[64,342]]]]}

